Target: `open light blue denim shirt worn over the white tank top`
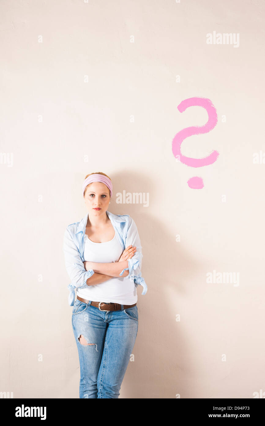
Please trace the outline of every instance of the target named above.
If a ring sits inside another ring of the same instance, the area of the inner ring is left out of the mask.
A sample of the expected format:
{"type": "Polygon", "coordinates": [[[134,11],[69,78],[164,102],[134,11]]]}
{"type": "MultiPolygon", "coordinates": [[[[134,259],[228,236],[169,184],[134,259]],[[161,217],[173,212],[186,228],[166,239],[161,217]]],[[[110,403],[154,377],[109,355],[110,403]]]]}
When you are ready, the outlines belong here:
{"type": "MultiPolygon", "coordinates": [[[[128,214],[116,215],[109,211],[106,211],[114,230],[117,231],[117,236],[120,241],[120,245],[123,250],[129,245],[136,247],[134,256],[128,260],[128,268],[121,271],[120,276],[123,275],[124,271],[129,270],[129,275],[125,278],[134,281],[135,286],[142,285],[142,294],[147,292],[147,285],[145,280],[142,278],[141,267],[142,267],[142,246],[140,237],[138,234],[137,226],[128,214]]],[[[72,223],[66,227],[64,238],[63,238],[63,251],[65,257],[66,271],[71,279],[71,283],[67,286],[70,291],[68,302],[70,306],[74,305],[75,288],[86,288],[86,280],[90,278],[94,271],[89,269],[85,270],[83,262],[85,259],[84,248],[85,248],[85,227],[88,220],[88,213],[83,217],[80,222],[72,223]]],[[[100,300],[101,302],[101,300],[100,300]]]]}

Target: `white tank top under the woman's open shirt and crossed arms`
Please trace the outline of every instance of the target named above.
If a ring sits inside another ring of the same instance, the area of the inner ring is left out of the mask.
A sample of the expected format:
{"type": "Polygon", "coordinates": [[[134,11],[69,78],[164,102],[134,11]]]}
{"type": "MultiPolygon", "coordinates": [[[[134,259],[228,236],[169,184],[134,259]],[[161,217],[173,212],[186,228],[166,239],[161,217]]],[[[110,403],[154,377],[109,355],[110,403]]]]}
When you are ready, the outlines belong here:
{"type": "MultiPolygon", "coordinates": [[[[111,263],[119,259],[123,253],[115,230],[114,238],[107,242],[91,241],[85,234],[84,259],[90,262],[111,263]]],[[[137,291],[128,276],[113,277],[100,284],[87,285],[77,288],[77,296],[95,302],[114,302],[123,305],[133,305],[137,302],[137,291]]]]}

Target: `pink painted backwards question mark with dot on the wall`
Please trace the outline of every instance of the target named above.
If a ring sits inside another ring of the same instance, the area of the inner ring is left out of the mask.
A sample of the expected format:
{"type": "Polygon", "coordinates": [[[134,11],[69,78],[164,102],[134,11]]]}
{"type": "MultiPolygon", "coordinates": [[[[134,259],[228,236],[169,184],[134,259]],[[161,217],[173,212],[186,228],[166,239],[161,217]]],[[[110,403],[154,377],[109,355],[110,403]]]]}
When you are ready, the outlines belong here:
{"type": "MultiPolygon", "coordinates": [[[[177,106],[177,109],[180,112],[183,112],[188,107],[205,108],[208,113],[208,121],[206,124],[204,124],[204,126],[187,127],[186,129],[182,129],[180,130],[180,132],[177,132],[177,134],[174,136],[174,139],[172,141],[172,152],[174,154],[174,157],[177,157],[178,155],[180,158],[180,161],[183,164],[187,164],[187,166],[190,166],[190,167],[208,166],[209,164],[213,164],[214,161],[217,160],[217,157],[219,155],[217,151],[212,151],[211,154],[205,158],[190,158],[190,157],[185,157],[184,155],[181,154],[180,145],[182,144],[185,138],[188,138],[188,136],[201,135],[202,133],[210,132],[210,130],[212,130],[217,124],[216,109],[214,108],[214,105],[212,104],[210,99],[207,99],[207,98],[185,99],[184,101],[180,102],[180,104],[177,106]]],[[[199,178],[198,176],[188,179],[187,183],[188,183],[188,186],[192,189],[202,189],[204,187],[202,178],[199,178]]]]}

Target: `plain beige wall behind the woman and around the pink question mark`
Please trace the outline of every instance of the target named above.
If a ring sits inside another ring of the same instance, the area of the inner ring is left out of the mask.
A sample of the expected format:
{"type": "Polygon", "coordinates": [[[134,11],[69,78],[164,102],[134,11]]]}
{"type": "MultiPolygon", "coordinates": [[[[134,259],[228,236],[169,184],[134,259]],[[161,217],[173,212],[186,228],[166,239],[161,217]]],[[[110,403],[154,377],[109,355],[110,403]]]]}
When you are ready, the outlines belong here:
{"type": "Polygon", "coordinates": [[[148,285],[120,398],[265,391],[264,12],[256,0],[1,1],[0,391],[79,397],[63,232],[97,171],[113,181],[109,210],[137,224],[148,285]],[[207,44],[214,32],[239,46],[207,44]],[[197,169],[171,150],[207,121],[178,111],[191,97],[218,114],[182,143],[189,157],[219,152],[197,169]],[[188,187],[197,175],[202,190],[188,187]],[[148,206],[117,204],[123,191],[148,206]],[[213,271],[239,285],[206,282],[213,271]]]}

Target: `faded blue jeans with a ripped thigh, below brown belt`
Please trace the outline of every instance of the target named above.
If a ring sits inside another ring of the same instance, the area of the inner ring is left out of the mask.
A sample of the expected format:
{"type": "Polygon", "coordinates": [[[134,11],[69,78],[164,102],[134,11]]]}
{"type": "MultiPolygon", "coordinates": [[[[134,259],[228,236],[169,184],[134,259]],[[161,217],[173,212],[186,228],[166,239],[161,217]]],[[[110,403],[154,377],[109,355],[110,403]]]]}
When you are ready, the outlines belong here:
{"type": "Polygon", "coordinates": [[[80,362],[79,397],[118,398],[137,336],[137,305],[106,312],[91,306],[91,300],[76,299],[72,327],[80,362]],[[81,334],[89,345],[80,343],[81,334]]]}

